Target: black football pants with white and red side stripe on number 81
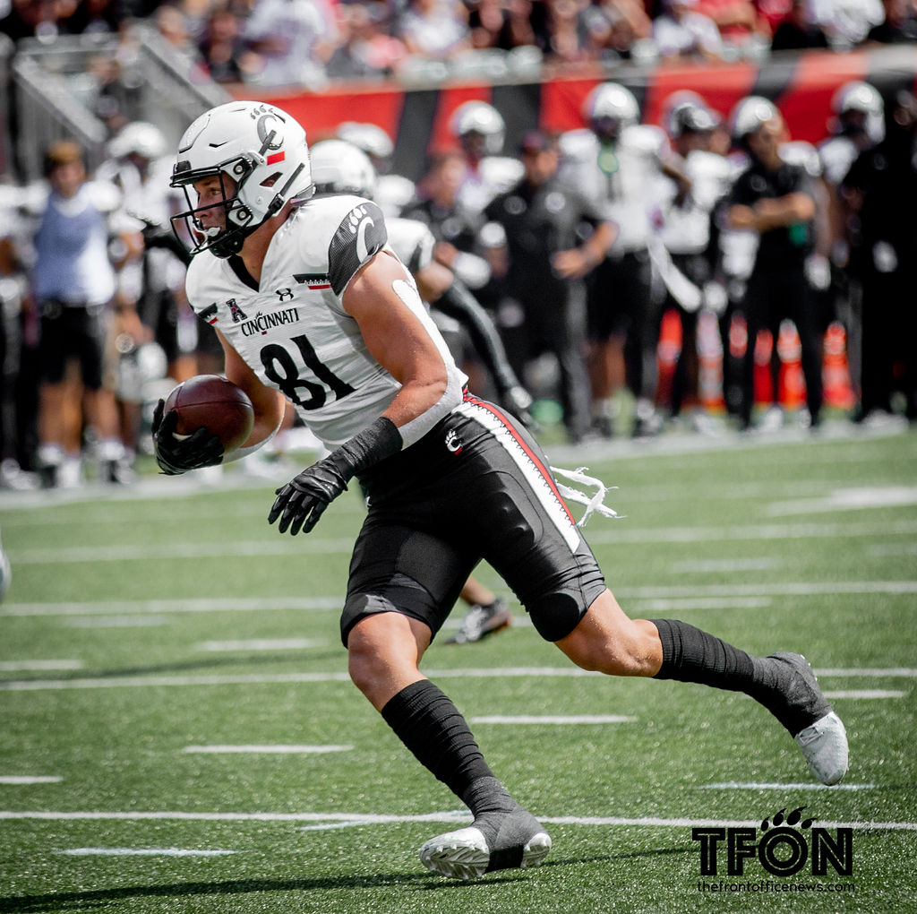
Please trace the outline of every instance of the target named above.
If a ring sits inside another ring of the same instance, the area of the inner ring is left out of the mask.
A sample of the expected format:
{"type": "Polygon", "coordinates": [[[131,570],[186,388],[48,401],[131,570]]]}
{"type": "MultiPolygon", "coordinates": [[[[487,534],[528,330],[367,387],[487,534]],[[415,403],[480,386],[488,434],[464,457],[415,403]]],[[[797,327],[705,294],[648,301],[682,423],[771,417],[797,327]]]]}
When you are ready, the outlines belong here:
{"type": "Polygon", "coordinates": [[[369,514],[350,563],[341,637],[377,612],[442,627],[486,560],[538,633],[576,628],[604,578],[532,436],[473,396],[425,437],[360,478],[369,514]]]}

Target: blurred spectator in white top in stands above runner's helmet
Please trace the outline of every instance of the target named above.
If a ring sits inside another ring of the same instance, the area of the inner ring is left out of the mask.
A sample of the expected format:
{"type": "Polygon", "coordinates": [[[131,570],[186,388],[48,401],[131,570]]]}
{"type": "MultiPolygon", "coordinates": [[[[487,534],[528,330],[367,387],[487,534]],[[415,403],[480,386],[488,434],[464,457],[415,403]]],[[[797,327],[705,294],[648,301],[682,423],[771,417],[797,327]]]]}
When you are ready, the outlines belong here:
{"type": "Polygon", "coordinates": [[[245,38],[260,55],[258,83],[315,88],[326,84],[325,65],[340,33],[326,0],[258,0],[245,38]]]}

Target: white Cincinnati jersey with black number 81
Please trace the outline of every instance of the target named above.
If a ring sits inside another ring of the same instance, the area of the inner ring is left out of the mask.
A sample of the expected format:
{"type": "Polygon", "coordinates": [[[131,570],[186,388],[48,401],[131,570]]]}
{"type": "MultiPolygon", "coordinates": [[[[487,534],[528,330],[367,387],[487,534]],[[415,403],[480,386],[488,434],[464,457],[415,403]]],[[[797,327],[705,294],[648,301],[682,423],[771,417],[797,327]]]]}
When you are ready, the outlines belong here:
{"type": "MultiPolygon", "coordinates": [[[[334,448],[365,429],[392,402],[399,382],[377,362],[341,296],[359,267],[392,251],[385,218],[370,200],[315,197],[283,223],[264,258],[259,288],[233,260],[204,252],[188,269],[188,300],[258,375],[296,407],[334,448]]],[[[405,271],[410,284],[414,280],[405,271]]],[[[450,385],[467,380],[421,305],[405,298],[443,357],[450,385]]]]}

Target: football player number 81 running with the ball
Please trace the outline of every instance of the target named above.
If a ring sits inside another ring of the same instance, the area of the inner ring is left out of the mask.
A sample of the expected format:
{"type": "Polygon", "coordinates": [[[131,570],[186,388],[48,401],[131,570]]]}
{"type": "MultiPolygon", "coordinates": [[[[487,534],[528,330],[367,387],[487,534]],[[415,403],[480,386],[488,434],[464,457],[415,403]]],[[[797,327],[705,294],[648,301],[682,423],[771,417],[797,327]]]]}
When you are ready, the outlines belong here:
{"type": "Polygon", "coordinates": [[[750,656],[679,621],[624,615],[536,441],[465,387],[379,207],[313,195],[292,117],[258,102],[212,109],[182,137],[172,184],[189,199],[178,217],[195,241],[189,301],[215,323],[226,375],[256,420],[223,453],[205,429],[176,439],[168,414],[157,457],[167,473],[234,459],[271,437],[286,396],[330,453],[277,491],[269,521],[309,532],[351,480],[369,492],[341,615],[349,673],[473,817],[425,842],[427,867],[477,877],[541,864],[551,846],[418,666],[481,559],[573,663],[745,692],[789,730],[819,781],[841,779],[844,725],[801,655],[750,656]]]}

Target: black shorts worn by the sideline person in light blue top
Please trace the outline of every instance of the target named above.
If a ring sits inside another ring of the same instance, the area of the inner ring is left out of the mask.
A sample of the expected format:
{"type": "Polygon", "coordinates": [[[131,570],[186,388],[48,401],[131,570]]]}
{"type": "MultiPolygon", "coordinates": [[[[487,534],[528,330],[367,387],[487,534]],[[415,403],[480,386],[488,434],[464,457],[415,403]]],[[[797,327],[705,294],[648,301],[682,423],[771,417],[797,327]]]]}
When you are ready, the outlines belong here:
{"type": "Polygon", "coordinates": [[[102,387],[105,352],[105,306],[69,305],[50,298],[41,302],[39,362],[41,380],[60,384],[70,359],[80,362],[83,385],[102,387]]]}

